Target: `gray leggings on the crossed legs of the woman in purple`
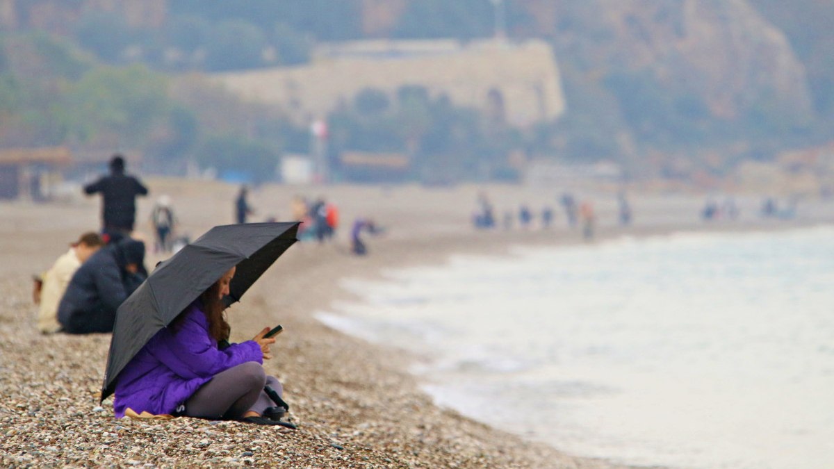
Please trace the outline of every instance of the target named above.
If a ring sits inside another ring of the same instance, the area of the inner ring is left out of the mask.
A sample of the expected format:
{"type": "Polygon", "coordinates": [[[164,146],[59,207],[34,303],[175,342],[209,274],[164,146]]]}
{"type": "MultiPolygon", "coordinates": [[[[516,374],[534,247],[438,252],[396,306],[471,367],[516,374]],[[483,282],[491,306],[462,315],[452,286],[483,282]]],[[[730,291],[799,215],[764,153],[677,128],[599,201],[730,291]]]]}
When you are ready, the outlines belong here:
{"type": "Polygon", "coordinates": [[[284,396],[284,387],[274,376],[266,376],[257,361],[247,361],[221,371],[185,401],[185,415],[208,419],[236,420],[248,411],[264,415],[267,407],[276,406],[264,392],[272,387],[284,396]]]}

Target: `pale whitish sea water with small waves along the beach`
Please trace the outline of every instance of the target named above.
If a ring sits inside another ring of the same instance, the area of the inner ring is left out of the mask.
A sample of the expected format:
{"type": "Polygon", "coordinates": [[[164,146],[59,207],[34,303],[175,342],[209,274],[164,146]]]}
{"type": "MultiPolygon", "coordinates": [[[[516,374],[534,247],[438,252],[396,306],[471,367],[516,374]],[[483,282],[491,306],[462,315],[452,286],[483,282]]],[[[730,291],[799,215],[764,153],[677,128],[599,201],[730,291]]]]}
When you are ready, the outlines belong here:
{"type": "Polygon", "coordinates": [[[350,280],[325,323],[442,406],[633,465],[834,467],[834,228],[516,248],[350,280]]]}

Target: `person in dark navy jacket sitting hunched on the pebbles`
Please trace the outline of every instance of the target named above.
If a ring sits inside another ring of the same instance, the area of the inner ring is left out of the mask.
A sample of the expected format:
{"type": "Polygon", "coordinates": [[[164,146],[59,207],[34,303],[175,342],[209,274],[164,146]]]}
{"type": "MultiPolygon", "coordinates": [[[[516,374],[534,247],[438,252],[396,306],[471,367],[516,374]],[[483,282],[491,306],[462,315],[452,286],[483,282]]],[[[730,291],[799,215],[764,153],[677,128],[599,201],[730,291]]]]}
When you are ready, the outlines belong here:
{"type": "Polygon", "coordinates": [[[98,250],[69,281],[58,322],[69,334],[112,332],[118,306],[148,278],[145,245],[125,238],[98,250]]]}

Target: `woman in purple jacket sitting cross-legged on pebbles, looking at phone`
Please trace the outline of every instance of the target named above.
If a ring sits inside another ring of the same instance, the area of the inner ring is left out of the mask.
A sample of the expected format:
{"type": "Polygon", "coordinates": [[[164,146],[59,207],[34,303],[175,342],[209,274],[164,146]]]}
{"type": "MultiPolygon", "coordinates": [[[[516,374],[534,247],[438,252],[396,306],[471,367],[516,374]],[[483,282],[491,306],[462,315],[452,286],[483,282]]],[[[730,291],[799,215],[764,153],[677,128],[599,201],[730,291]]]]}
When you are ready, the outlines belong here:
{"type": "Polygon", "coordinates": [[[234,267],[208,287],[168,327],[159,330],[125,366],[116,382],[113,410],[117,417],[170,414],[206,419],[239,420],[283,425],[264,413],[280,416],[264,386],[282,394],[274,376],[266,376],[264,359],[272,358],[264,339],[269,328],[253,340],[219,350],[229,338],[222,298],[229,295],[234,267]],[[273,407],[269,409],[269,407],[273,407]]]}

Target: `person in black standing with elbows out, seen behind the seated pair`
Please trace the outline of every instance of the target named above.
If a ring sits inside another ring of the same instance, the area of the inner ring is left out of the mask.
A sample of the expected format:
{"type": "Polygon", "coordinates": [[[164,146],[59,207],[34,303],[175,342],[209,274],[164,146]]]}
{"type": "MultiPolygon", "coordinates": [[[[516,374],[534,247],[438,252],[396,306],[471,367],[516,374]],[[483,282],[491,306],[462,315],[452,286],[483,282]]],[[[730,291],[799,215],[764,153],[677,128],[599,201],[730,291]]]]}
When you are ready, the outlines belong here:
{"type": "Polygon", "coordinates": [[[133,176],[124,174],[122,155],[114,154],[110,159],[110,174],[84,186],[84,194],[98,193],[103,198],[102,233],[130,235],[136,221],[136,196],[148,195],[148,188],[133,176]]]}

